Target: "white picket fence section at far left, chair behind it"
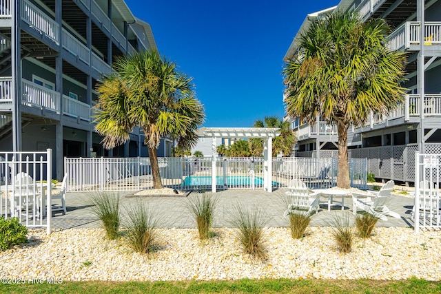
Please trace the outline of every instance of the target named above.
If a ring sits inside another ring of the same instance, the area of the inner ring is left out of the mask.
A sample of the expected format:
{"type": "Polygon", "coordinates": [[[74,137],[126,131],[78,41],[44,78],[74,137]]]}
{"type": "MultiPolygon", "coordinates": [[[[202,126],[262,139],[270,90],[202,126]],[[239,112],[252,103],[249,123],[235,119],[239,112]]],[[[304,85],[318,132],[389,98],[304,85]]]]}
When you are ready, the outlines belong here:
{"type": "Polygon", "coordinates": [[[0,152],[0,214],[50,233],[52,149],[0,152]]]}

